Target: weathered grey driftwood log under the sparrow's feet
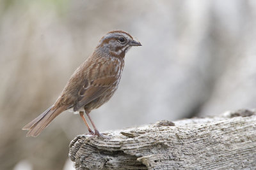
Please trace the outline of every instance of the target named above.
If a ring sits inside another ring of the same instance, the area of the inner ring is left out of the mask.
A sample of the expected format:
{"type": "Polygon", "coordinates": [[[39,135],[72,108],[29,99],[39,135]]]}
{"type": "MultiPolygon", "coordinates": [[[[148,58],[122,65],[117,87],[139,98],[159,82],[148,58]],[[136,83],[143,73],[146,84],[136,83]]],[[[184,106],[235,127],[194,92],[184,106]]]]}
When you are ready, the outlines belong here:
{"type": "Polygon", "coordinates": [[[256,169],[256,114],[239,110],[77,136],[69,157],[76,169],[256,169]]]}

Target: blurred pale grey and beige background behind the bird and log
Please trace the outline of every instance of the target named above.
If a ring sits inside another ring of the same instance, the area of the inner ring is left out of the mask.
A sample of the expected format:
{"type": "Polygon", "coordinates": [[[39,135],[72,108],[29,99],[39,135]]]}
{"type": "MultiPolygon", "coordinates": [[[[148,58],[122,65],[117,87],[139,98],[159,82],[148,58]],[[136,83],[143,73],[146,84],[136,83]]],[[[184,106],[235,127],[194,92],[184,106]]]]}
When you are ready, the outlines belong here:
{"type": "Polygon", "coordinates": [[[72,169],[87,132],[64,112],[38,138],[21,128],[56,101],[99,39],[124,30],[143,46],[92,118],[100,131],[256,106],[256,1],[0,1],[0,169],[72,169]]]}

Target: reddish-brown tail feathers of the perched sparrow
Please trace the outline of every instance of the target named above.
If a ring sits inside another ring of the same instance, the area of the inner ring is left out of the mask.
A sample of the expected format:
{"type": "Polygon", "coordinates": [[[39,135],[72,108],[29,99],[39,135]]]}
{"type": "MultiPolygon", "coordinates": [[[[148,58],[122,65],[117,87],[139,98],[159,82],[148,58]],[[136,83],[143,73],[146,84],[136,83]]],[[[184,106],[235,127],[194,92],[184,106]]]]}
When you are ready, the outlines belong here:
{"type": "MultiPolygon", "coordinates": [[[[54,106],[54,105],[53,105],[54,106]]],[[[25,125],[22,130],[27,130],[27,136],[38,136],[44,129],[49,125],[54,118],[56,118],[62,111],[65,110],[65,107],[61,106],[59,108],[54,108],[51,106],[44,111],[37,118],[25,125]]]]}

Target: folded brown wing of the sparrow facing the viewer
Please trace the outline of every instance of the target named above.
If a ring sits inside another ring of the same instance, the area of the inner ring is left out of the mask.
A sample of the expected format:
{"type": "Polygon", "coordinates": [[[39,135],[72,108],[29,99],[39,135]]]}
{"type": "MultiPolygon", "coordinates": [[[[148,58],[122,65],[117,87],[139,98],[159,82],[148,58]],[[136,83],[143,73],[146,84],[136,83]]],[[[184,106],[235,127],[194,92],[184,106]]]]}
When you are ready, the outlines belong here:
{"type": "Polygon", "coordinates": [[[100,97],[115,82],[115,76],[105,76],[93,81],[85,80],[83,87],[78,92],[78,100],[74,106],[74,111],[79,110],[79,108],[100,97]]]}

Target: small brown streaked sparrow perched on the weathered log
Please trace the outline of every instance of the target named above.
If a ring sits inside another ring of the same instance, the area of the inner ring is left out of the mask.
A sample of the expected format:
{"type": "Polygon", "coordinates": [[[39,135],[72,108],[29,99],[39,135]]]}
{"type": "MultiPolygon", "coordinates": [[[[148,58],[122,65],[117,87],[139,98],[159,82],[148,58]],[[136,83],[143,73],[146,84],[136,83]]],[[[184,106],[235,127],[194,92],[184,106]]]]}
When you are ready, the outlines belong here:
{"type": "Polygon", "coordinates": [[[141,43],[125,31],[110,31],[103,36],[92,55],[74,71],[56,102],[22,128],[28,131],[26,136],[38,136],[60,113],[71,110],[79,113],[90,134],[103,137],[90,112],[109,101],[115,93],[124,69],[125,53],[132,46],[141,46],[141,43]]]}

